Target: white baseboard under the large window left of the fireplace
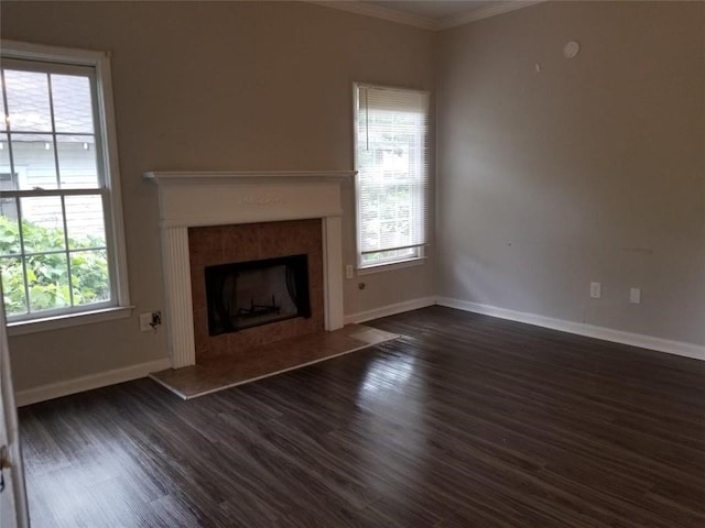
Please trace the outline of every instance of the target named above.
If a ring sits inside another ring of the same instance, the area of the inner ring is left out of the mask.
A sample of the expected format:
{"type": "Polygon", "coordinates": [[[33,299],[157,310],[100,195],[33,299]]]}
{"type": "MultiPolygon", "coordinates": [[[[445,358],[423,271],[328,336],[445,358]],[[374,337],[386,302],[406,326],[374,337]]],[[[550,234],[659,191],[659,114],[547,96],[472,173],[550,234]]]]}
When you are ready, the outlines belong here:
{"type": "Polygon", "coordinates": [[[112,371],[98,372],[88,376],[74,377],[73,380],[66,380],[64,382],[50,383],[35,388],[29,388],[26,391],[18,391],[14,395],[14,399],[18,407],[22,407],[24,405],[68,396],[69,394],[83,393],[84,391],[115,385],[116,383],[138,380],[140,377],[145,377],[152,372],[163,371],[171,366],[171,360],[164,358],[163,360],[149,361],[147,363],[130,365],[122,369],[113,369],[112,371]]]}

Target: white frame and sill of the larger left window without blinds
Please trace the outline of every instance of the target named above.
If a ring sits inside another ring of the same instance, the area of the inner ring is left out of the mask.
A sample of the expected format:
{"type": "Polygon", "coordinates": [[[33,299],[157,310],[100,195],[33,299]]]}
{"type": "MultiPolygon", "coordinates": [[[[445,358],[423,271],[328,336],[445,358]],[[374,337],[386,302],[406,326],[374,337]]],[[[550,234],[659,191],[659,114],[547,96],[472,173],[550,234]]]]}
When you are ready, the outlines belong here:
{"type": "Polygon", "coordinates": [[[101,153],[98,160],[98,163],[101,164],[99,170],[104,175],[104,186],[107,190],[104,194],[104,218],[106,246],[111,272],[111,302],[109,306],[101,306],[96,309],[96,307],[91,308],[90,305],[87,305],[85,309],[73,307],[70,311],[65,310],[47,317],[11,320],[8,322],[8,332],[10,336],[19,336],[130,317],[134,307],[130,304],[128,285],[110,55],[107,52],[45,46],[6,40],[0,41],[0,54],[3,59],[83,66],[89,67],[95,72],[95,111],[98,117],[96,141],[99,142],[97,147],[101,153]]]}

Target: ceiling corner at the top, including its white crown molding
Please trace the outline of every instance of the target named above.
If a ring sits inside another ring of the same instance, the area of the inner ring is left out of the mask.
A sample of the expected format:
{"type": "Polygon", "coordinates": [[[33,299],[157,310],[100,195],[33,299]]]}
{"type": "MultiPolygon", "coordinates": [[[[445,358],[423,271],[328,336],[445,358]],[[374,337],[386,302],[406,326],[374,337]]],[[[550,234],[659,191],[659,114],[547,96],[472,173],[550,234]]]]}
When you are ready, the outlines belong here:
{"type": "Polygon", "coordinates": [[[307,0],[426,30],[445,30],[545,0],[307,0]]]}

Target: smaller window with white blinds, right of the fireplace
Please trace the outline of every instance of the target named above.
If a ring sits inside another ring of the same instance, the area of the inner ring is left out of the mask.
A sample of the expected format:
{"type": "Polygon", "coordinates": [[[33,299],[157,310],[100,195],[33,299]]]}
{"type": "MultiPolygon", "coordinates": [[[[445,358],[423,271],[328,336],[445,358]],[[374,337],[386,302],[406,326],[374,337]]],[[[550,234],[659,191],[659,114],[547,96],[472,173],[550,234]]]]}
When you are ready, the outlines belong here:
{"type": "Polygon", "coordinates": [[[429,94],[355,85],[358,267],[422,258],[429,237],[429,94]]]}

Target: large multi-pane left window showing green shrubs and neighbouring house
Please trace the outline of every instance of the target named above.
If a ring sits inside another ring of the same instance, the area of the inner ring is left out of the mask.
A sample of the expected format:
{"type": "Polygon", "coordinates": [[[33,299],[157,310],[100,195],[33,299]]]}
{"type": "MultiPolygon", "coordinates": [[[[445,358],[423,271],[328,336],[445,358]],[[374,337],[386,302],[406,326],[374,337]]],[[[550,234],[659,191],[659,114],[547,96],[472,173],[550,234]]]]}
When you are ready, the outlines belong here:
{"type": "Polygon", "coordinates": [[[129,304],[109,79],[102,53],[2,43],[0,273],[10,323],[129,304]]]}

